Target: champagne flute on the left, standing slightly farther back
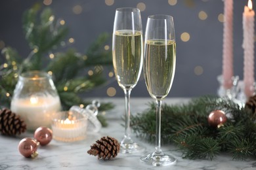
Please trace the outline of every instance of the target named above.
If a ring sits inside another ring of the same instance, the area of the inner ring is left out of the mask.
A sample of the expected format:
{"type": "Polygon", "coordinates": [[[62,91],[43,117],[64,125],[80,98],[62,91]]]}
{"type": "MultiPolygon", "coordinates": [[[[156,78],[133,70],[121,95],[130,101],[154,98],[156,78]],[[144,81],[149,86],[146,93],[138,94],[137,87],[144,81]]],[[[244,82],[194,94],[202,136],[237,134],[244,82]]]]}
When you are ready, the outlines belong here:
{"type": "Polygon", "coordinates": [[[125,93],[125,135],[121,141],[121,152],[132,154],[143,149],[134,143],[130,136],[130,93],[139,80],[143,63],[139,9],[116,9],[112,43],[114,72],[119,86],[125,93]]]}

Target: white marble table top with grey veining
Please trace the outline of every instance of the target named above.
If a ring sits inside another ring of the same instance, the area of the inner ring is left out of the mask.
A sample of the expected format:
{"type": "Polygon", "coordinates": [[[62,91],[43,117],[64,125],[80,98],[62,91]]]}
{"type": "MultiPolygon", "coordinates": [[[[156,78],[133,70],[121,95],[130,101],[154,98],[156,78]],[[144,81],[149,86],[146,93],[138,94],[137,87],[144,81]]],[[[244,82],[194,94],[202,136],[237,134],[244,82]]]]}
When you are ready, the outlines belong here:
{"type": "MultiPolygon", "coordinates": [[[[62,143],[51,141],[47,146],[39,146],[37,152],[39,155],[35,159],[24,158],[18,152],[18,143],[24,137],[33,137],[32,133],[23,133],[19,137],[5,137],[0,135],[0,169],[256,169],[256,160],[233,161],[228,155],[221,155],[210,160],[186,160],[182,159],[181,153],[175,146],[163,146],[163,151],[173,154],[177,158],[177,164],[171,167],[152,167],[140,162],[141,154],[154,151],[154,144],[140,141],[139,138],[133,139],[144,144],[146,151],[137,155],[119,154],[117,158],[110,161],[98,160],[95,156],[89,156],[87,150],[90,145],[104,135],[110,135],[121,140],[124,133],[124,127],[121,126],[121,115],[124,110],[123,98],[104,98],[100,101],[110,101],[116,105],[115,109],[106,112],[109,126],[104,127],[99,133],[87,135],[87,139],[75,143],[62,143]]],[[[131,112],[135,114],[146,109],[148,98],[131,98],[131,112]]],[[[167,98],[164,103],[181,103],[188,99],[167,98]]]]}

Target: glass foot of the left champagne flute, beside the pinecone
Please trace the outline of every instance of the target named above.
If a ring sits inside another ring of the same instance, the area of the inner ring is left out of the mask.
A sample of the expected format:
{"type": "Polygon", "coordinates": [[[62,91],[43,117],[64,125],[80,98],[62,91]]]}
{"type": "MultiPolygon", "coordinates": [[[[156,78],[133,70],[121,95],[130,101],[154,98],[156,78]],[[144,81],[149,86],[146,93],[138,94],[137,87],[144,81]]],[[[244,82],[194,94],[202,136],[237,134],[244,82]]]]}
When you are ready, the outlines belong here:
{"type": "Polygon", "coordinates": [[[143,146],[138,143],[121,143],[120,152],[122,154],[136,154],[141,153],[145,150],[143,146]]]}

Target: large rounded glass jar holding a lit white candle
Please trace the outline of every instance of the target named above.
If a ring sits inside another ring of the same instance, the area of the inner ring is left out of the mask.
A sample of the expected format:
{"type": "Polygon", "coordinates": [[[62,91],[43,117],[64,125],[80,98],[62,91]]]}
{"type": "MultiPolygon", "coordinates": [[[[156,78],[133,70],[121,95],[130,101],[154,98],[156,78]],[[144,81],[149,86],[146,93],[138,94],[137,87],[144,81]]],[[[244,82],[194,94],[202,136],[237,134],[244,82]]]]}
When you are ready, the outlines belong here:
{"type": "Polygon", "coordinates": [[[60,109],[60,97],[51,75],[43,71],[29,71],[18,77],[11,110],[20,115],[28,130],[51,127],[52,115],[60,109]]]}

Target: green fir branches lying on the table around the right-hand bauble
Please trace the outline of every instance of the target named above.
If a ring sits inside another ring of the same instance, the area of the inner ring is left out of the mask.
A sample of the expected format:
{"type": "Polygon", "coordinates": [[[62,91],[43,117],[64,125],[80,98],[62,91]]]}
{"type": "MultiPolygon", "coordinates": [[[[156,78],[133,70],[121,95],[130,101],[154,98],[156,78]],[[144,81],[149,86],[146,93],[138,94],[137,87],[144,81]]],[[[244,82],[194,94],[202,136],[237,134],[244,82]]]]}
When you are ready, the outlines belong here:
{"type": "MultiPolygon", "coordinates": [[[[154,142],[155,103],[131,117],[132,129],[147,141],[154,142]]],[[[177,144],[184,158],[213,160],[221,152],[234,160],[256,158],[256,116],[231,100],[213,96],[192,99],[186,105],[163,105],[161,141],[177,144]],[[228,119],[221,128],[208,124],[209,112],[223,110],[228,119]]]]}

